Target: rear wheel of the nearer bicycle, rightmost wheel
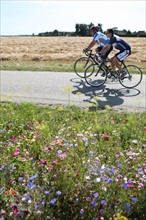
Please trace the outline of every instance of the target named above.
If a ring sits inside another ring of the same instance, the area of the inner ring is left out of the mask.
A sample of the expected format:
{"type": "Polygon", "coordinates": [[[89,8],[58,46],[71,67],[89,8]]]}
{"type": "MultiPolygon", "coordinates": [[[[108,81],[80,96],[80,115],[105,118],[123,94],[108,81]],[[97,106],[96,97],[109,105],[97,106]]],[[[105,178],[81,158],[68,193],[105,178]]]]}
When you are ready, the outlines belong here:
{"type": "Polygon", "coordinates": [[[122,86],[132,89],[141,83],[142,71],[139,67],[135,65],[127,65],[123,70],[126,72],[126,75],[124,79],[119,78],[122,86]]]}

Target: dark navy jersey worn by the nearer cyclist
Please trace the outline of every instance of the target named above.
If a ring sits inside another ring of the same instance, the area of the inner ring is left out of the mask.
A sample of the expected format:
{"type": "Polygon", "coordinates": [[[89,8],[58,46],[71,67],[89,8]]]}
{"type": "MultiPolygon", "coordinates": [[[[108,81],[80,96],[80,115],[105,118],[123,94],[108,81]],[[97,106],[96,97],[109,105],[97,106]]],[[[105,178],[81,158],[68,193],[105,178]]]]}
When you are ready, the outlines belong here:
{"type": "Polygon", "coordinates": [[[113,47],[120,51],[131,50],[130,45],[115,34],[110,38],[109,44],[111,44],[113,47]]]}

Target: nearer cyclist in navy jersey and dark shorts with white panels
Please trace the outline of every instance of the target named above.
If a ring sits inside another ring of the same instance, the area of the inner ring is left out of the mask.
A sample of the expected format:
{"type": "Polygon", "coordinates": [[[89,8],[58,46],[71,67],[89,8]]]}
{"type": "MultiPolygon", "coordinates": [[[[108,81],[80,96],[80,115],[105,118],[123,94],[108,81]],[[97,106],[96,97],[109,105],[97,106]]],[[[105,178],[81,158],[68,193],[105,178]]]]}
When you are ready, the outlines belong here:
{"type": "Polygon", "coordinates": [[[111,65],[114,68],[117,68],[121,73],[121,79],[124,79],[126,72],[122,71],[120,61],[123,61],[126,57],[128,57],[131,54],[131,46],[125,42],[122,38],[114,34],[113,29],[107,29],[106,35],[108,38],[110,38],[110,41],[108,44],[105,45],[105,47],[101,50],[101,56],[104,56],[105,51],[109,50],[111,46],[115,47],[115,49],[119,50],[118,53],[116,53],[111,58],[111,65]]]}

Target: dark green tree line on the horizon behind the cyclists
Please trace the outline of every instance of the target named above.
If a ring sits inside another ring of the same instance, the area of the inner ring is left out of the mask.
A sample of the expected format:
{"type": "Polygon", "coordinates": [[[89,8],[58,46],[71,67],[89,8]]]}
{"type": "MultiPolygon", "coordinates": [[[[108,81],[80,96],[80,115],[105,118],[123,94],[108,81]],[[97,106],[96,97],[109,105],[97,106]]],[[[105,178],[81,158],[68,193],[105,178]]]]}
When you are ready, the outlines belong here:
{"type": "MultiPolygon", "coordinates": [[[[90,24],[76,24],[75,25],[75,31],[74,32],[67,32],[67,31],[58,31],[54,30],[52,32],[42,32],[39,33],[38,36],[81,36],[81,37],[88,37],[90,35],[90,27],[93,25],[93,23],[90,24]]],[[[103,30],[103,25],[101,23],[97,24],[99,30],[102,33],[106,33],[106,31],[103,30]]],[[[115,34],[122,36],[122,37],[146,37],[145,31],[134,31],[131,32],[130,30],[118,30],[117,27],[114,28],[115,34]]],[[[33,34],[34,35],[34,34],[33,34]]]]}

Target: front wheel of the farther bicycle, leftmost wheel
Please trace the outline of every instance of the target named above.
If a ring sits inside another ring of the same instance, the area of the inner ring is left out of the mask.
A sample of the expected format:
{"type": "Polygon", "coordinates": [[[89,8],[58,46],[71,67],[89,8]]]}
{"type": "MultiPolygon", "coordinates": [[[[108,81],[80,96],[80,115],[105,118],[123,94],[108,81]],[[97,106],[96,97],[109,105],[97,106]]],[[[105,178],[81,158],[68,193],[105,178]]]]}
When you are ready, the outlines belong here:
{"type": "Polygon", "coordinates": [[[84,78],[85,69],[91,64],[93,64],[93,61],[90,58],[80,57],[74,64],[74,71],[79,77],[84,78]]]}

